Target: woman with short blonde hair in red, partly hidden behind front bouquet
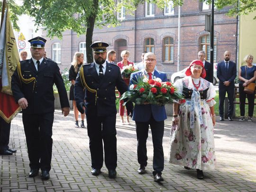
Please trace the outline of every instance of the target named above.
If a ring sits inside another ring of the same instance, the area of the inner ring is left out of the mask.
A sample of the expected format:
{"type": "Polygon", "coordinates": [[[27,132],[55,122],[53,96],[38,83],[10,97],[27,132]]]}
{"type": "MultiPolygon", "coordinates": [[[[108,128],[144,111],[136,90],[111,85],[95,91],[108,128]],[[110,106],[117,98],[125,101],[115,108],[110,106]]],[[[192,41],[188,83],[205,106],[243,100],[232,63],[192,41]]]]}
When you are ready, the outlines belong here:
{"type": "MultiPolygon", "coordinates": [[[[120,70],[122,70],[123,67],[125,67],[125,66],[133,65],[133,62],[128,61],[129,55],[130,55],[130,53],[129,53],[128,50],[123,50],[121,52],[121,57],[123,58],[123,60],[117,63],[118,67],[120,67],[120,70]]],[[[126,79],[124,79],[124,81],[125,81],[125,83],[127,84],[127,87],[128,87],[128,85],[130,83],[130,79],[126,78],[126,79]]],[[[120,96],[120,93],[119,93],[119,96],[120,96]]],[[[124,103],[124,101],[120,100],[120,102],[119,102],[119,115],[121,117],[121,124],[122,125],[124,125],[124,123],[125,123],[124,122],[124,109],[125,109],[125,107],[123,106],[123,103],[124,103]]],[[[127,118],[126,122],[129,124],[130,123],[129,122],[129,115],[128,115],[127,112],[126,112],[126,118],[127,118]]]]}

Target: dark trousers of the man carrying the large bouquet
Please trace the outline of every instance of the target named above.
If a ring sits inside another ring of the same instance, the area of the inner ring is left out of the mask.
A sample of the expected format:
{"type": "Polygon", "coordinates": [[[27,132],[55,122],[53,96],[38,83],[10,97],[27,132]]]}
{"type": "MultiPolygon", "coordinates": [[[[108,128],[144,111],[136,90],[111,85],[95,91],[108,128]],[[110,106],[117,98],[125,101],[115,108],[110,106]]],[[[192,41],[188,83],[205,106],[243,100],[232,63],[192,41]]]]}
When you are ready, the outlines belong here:
{"type": "MultiPolygon", "coordinates": [[[[151,116],[148,122],[136,121],[136,133],[137,133],[137,157],[138,163],[142,166],[147,165],[146,155],[146,140],[148,137],[148,128],[151,128],[152,141],[154,148],[153,155],[153,169],[154,173],[160,173],[164,169],[164,150],[163,150],[163,136],[164,136],[164,121],[155,121],[151,116]]],[[[154,174],[155,175],[155,174],[154,174]]]]}

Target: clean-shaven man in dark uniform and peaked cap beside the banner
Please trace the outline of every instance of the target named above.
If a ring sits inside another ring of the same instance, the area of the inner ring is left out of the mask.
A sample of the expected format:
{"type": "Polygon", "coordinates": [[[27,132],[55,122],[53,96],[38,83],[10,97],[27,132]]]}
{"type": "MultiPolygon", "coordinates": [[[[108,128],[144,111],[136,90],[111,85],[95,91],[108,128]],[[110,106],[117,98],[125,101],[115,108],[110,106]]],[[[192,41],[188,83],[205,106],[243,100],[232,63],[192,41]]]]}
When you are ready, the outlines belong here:
{"type": "Polygon", "coordinates": [[[52,159],[52,126],[54,120],[55,83],[64,116],[69,114],[69,101],[57,63],[44,58],[45,42],[42,37],[29,40],[32,58],[21,61],[12,75],[13,96],[22,108],[22,121],[27,141],[30,172],[49,179],[52,159]]]}

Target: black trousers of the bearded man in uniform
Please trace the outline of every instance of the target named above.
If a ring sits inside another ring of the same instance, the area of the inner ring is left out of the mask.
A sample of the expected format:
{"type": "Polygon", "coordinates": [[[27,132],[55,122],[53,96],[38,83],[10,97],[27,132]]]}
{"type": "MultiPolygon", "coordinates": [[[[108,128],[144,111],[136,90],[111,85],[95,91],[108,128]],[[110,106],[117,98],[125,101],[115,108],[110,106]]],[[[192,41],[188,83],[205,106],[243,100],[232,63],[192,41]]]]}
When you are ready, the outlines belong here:
{"type": "Polygon", "coordinates": [[[117,167],[116,115],[97,117],[96,114],[86,115],[87,132],[90,139],[91,167],[101,169],[103,166],[103,143],[105,165],[108,169],[117,167]]]}

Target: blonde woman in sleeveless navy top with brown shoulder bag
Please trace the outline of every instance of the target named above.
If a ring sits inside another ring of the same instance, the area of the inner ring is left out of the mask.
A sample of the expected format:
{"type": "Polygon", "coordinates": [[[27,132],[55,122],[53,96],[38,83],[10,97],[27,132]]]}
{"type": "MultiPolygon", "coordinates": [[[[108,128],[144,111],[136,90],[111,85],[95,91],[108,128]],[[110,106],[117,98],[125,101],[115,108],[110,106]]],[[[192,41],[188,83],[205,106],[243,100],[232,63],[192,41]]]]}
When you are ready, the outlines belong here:
{"type": "Polygon", "coordinates": [[[252,94],[248,94],[244,92],[244,88],[249,83],[255,83],[256,80],[256,66],[253,66],[253,56],[247,55],[244,58],[246,62],[245,66],[241,66],[238,71],[238,79],[239,79],[239,100],[240,100],[240,119],[239,121],[245,120],[245,101],[246,96],[248,100],[248,122],[252,122],[253,111],[254,111],[254,98],[255,92],[252,94]]]}

